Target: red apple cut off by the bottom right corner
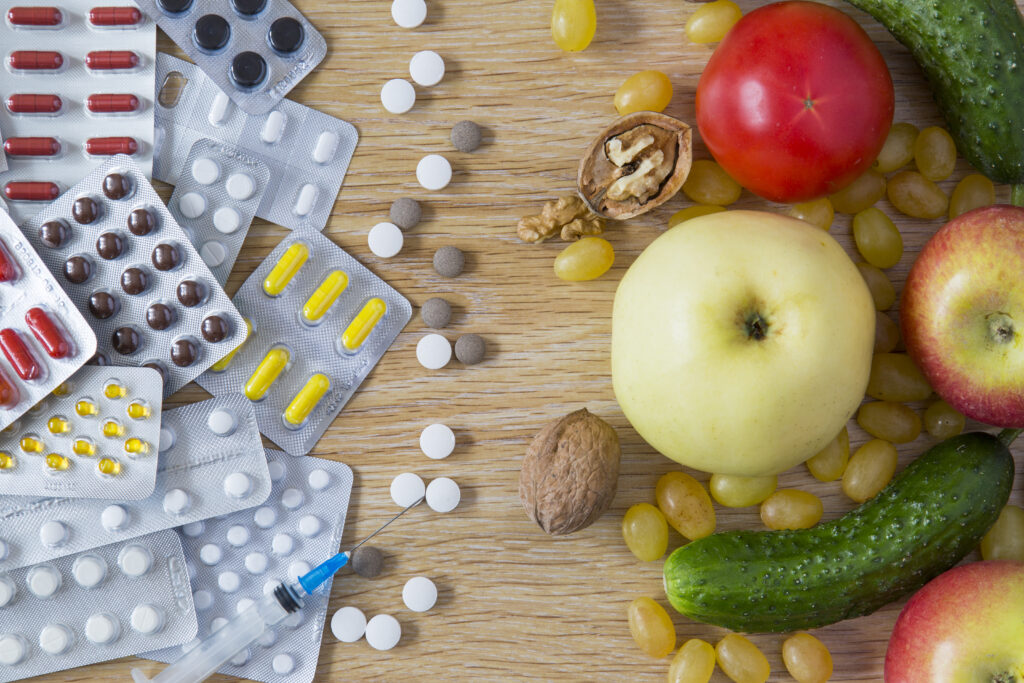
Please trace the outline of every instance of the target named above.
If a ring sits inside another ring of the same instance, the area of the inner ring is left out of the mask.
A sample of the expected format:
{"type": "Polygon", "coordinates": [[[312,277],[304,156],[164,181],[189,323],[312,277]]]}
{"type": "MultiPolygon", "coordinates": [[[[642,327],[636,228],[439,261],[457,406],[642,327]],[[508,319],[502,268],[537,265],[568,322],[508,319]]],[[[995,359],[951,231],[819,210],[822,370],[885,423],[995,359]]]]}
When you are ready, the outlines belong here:
{"type": "Polygon", "coordinates": [[[1024,564],[974,562],[926,584],[896,621],[885,681],[1024,681],[1024,564]]]}

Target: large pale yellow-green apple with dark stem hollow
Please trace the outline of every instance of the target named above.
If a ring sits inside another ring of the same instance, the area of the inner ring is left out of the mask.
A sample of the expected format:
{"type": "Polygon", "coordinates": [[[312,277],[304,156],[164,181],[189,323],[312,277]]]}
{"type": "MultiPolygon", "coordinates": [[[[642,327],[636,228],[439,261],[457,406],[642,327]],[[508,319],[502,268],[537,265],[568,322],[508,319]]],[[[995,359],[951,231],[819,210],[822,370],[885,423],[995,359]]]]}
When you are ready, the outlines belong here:
{"type": "Polygon", "coordinates": [[[659,237],[615,293],[611,376],[636,430],[706,472],[759,476],[831,441],[864,396],[874,305],[827,232],[726,211],[659,237]]]}

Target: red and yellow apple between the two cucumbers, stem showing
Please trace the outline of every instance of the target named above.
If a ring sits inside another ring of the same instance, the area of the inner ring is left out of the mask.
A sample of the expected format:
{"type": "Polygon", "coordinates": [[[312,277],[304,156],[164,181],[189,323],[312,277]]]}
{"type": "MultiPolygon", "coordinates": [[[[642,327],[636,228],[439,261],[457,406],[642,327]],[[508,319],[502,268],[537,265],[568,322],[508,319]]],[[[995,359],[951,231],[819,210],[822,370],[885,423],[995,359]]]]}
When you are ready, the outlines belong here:
{"type": "Polygon", "coordinates": [[[936,232],[907,275],[900,327],[946,402],[1024,427],[1024,209],[975,209],[936,232]]]}

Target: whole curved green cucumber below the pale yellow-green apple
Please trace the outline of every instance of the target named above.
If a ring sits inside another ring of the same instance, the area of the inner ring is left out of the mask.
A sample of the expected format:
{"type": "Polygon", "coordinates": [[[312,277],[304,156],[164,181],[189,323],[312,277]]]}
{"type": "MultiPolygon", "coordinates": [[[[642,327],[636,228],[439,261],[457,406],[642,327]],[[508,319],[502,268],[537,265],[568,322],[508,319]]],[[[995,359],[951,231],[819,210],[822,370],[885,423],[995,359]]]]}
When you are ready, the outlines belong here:
{"type": "Polygon", "coordinates": [[[1016,430],[1002,440],[973,432],[942,441],[831,522],[726,531],[682,546],[665,562],[669,601],[698,622],[744,632],[869,614],[977,547],[1010,498],[1013,436],[1016,430]]]}

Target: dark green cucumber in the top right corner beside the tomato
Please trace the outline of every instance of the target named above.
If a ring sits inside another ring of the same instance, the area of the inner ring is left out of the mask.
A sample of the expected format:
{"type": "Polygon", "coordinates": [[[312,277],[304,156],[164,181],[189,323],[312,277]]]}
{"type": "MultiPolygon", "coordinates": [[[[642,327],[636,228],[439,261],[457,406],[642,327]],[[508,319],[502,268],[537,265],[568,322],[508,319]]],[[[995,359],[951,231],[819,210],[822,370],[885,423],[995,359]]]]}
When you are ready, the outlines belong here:
{"type": "Polygon", "coordinates": [[[1024,183],[1024,20],[1016,2],[847,2],[909,48],[961,154],[996,182],[1024,183]]]}

